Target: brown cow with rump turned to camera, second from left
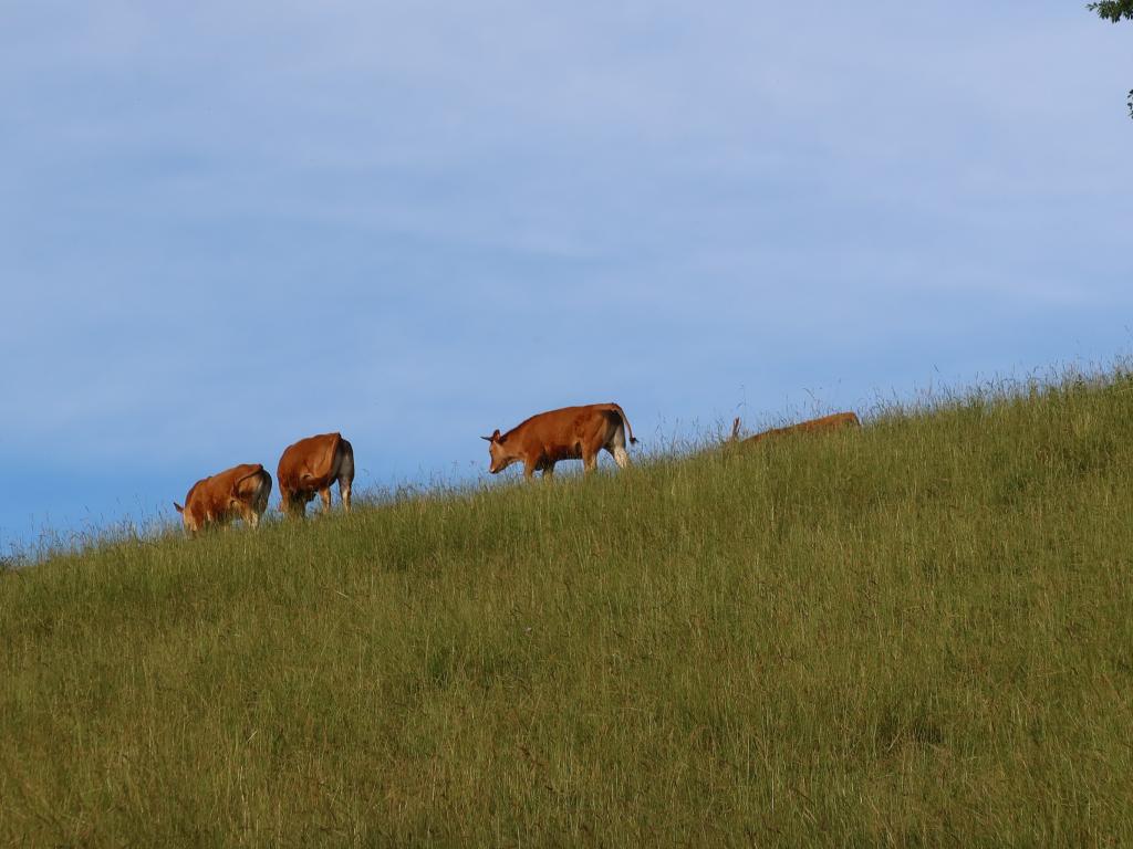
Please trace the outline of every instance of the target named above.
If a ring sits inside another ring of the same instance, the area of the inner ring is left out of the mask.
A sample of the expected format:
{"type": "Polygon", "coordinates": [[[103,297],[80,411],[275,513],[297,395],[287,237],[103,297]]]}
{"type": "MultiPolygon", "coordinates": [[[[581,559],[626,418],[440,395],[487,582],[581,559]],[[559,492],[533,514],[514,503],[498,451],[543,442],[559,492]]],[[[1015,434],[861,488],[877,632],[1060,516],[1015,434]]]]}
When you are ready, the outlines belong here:
{"type": "Polygon", "coordinates": [[[317,492],[323,513],[331,509],[331,486],[338,481],[342,508],[350,512],[353,483],[353,448],[341,434],[308,436],[289,445],[280,457],[275,478],[280,484],[280,509],[289,516],[305,516],[307,503],[317,492]]]}

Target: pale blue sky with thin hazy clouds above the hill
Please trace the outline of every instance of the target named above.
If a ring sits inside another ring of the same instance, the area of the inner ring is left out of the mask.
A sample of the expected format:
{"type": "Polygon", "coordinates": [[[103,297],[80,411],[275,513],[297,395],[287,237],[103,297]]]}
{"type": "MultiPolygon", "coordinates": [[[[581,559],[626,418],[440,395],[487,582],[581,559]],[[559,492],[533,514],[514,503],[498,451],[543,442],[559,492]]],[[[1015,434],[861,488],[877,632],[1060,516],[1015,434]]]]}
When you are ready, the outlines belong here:
{"type": "Polygon", "coordinates": [[[0,0],[0,550],[1128,353],[1133,24],[854,6],[0,0]]]}

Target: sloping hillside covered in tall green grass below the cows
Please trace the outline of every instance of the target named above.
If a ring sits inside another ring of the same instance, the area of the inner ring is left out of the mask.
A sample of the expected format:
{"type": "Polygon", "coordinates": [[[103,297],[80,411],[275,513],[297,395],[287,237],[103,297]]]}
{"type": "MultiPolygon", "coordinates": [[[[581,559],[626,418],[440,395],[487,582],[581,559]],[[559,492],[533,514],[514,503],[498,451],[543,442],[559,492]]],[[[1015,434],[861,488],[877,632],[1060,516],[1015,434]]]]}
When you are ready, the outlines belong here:
{"type": "Polygon", "coordinates": [[[1133,379],[0,573],[0,844],[1133,842],[1133,379]]]}

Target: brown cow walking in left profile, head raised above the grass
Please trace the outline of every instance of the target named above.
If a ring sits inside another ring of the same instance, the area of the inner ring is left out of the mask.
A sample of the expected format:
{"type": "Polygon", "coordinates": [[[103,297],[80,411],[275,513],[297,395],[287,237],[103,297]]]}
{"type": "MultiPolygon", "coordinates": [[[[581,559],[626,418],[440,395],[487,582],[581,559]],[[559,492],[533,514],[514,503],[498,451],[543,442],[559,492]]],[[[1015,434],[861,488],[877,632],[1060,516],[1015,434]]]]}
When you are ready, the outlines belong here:
{"type": "Polygon", "coordinates": [[[634,445],[633,428],[617,404],[588,404],[539,413],[503,436],[497,429],[480,438],[491,443],[492,474],[522,461],[523,477],[530,479],[537,470],[550,478],[560,460],[581,460],[582,469],[590,472],[602,449],[610,452],[619,469],[624,469],[630,462],[627,431],[630,445],[634,445]]]}

